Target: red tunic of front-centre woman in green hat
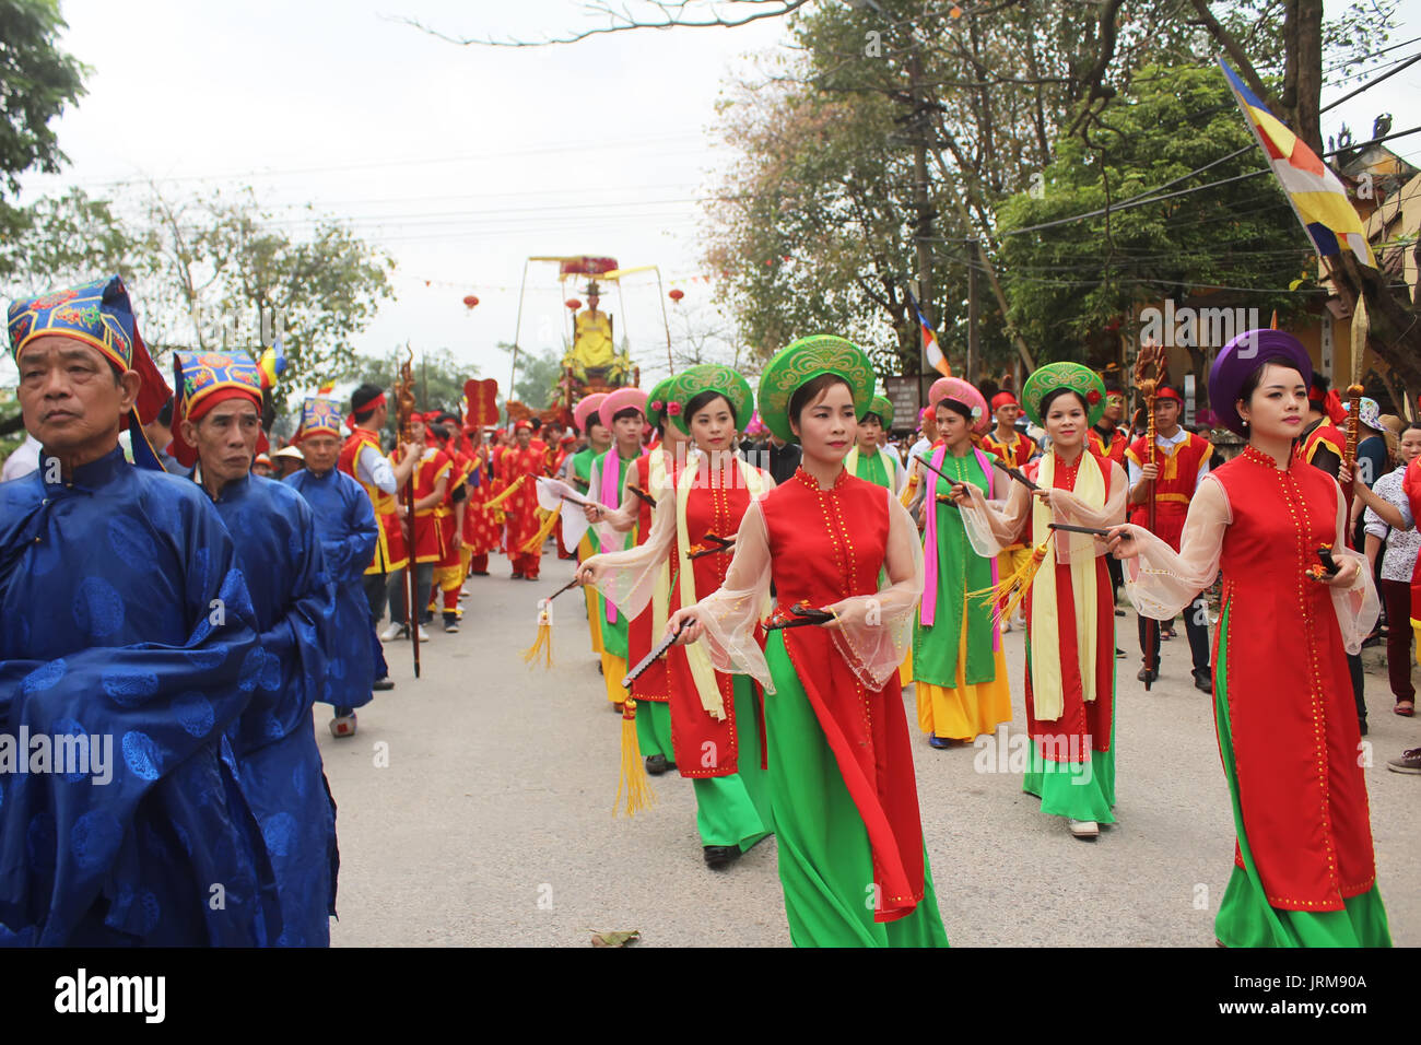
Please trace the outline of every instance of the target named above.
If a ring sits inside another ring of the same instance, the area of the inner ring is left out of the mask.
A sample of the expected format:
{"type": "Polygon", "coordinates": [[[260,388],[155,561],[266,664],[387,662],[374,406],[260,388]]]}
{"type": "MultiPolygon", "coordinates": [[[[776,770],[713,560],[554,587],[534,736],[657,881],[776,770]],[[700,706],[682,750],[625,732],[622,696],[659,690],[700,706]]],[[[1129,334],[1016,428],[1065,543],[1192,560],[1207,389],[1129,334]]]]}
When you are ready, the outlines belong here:
{"type": "MultiPolygon", "coordinates": [[[[762,506],[780,606],[806,599],[828,606],[878,590],[888,549],[882,486],[844,471],[821,491],[801,468],[764,495],[762,506]]],[[[902,687],[894,674],[882,690],[867,688],[821,628],[780,634],[868,833],[874,881],[882,893],[874,918],[895,921],[911,914],[924,893],[922,820],[902,687]]]]}

